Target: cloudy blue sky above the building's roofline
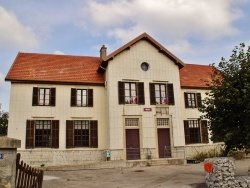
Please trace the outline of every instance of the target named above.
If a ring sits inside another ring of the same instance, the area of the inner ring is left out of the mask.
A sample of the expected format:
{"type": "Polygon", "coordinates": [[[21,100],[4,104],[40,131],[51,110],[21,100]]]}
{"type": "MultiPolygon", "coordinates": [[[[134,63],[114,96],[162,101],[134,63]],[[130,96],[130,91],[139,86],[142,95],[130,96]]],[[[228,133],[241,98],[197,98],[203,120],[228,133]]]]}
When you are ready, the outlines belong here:
{"type": "Polygon", "coordinates": [[[185,63],[218,64],[250,45],[250,0],[0,0],[0,103],[18,52],[99,56],[148,33],[185,63]]]}

